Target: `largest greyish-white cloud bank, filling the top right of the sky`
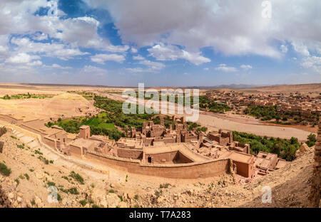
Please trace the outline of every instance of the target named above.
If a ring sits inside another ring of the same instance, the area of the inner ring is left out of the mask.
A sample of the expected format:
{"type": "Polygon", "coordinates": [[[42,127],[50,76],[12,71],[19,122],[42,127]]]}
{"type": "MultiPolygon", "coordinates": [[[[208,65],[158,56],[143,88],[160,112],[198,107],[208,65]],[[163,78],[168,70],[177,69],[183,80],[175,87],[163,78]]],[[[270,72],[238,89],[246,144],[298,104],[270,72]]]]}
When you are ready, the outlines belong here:
{"type": "Polygon", "coordinates": [[[85,1],[108,9],[121,38],[138,46],[164,42],[187,51],[210,46],[226,55],[280,58],[280,49],[271,40],[321,41],[321,19],[315,10],[321,8],[319,0],[270,0],[271,19],[261,16],[262,1],[257,0],[85,1]]]}

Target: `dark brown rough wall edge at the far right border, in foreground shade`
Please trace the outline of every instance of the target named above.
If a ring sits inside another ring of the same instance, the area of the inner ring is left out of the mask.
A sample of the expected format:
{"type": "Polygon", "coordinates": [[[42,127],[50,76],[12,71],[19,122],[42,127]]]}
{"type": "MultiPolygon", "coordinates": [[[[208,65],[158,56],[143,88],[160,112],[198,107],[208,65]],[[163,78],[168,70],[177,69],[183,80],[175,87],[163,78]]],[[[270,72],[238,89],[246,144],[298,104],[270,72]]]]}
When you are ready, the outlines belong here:
{"type": "Polygon", "coordinates": [[[312,171],[312,183],[310,191],[310,206],[320,207],[320,191],[321,191],[321,117],[319,119],[319,129],[317,132],[317,142],[315,144],[315,162],[312,171]]]}

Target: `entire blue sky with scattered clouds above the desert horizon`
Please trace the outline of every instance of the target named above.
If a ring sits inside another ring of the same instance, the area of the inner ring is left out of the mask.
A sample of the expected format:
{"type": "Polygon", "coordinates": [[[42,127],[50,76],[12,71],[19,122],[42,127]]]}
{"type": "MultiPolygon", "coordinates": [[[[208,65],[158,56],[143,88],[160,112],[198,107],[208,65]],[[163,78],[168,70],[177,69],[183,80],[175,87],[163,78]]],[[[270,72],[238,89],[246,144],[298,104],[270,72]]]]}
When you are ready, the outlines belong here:
{"type": "Polygon", "coordinates": [[[0,82],[321,83],[320,0],[1,0],[0,82]]]}

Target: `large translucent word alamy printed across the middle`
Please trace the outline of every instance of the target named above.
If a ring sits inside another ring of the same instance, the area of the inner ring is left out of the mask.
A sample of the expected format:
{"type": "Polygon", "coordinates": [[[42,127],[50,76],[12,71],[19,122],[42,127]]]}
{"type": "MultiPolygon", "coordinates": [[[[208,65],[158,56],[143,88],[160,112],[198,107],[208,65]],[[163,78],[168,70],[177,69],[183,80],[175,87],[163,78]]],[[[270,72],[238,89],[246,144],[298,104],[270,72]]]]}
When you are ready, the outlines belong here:
{"type": "Polygon", "coordinates": [[[163,114],[163,115],[186,115],[190,122],[198,121],[199,116],[199,94],[198,89],[156,89],[145,90],[144,83],[138,84],[138,92],[135,90],[124,90],[123,113],[125,114],[163,114]],[[191,95],[193,91],[193,95],[191,95]],[[146,102],[146,98],[150,98],[146,102]],[[193,105],[192,105],[193,98],[193,105]],[[138,109],[136,107],[138,105],[138,109]],[[160,108],[161,107],[161,108],[160,108]]]}

